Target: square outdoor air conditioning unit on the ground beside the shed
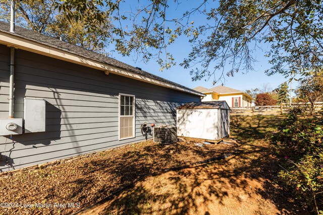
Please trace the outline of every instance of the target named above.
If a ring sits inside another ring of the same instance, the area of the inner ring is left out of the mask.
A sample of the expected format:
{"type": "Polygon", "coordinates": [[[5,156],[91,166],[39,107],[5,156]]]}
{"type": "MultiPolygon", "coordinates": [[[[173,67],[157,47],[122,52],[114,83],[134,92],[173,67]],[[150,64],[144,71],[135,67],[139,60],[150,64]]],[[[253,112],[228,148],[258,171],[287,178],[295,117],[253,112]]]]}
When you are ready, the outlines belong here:
{"type": "Polygon", "coordinates": [[[177,141],[177,128],[175,125],[159,125],[153,128],[153,141],[161,144],[173,144],[177,141]]]}

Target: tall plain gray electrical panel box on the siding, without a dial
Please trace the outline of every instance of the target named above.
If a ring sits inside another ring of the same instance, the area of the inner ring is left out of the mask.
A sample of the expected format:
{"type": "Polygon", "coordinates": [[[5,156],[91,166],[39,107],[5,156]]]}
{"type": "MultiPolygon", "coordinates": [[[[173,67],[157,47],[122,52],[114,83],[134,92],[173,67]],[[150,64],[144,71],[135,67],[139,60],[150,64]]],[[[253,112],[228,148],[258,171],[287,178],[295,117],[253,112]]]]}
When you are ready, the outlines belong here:
{"type": "Polygon", "coordinates": [[[38,98],[25,100],[25,133],[45,131],[46,101],[38,98]]]}

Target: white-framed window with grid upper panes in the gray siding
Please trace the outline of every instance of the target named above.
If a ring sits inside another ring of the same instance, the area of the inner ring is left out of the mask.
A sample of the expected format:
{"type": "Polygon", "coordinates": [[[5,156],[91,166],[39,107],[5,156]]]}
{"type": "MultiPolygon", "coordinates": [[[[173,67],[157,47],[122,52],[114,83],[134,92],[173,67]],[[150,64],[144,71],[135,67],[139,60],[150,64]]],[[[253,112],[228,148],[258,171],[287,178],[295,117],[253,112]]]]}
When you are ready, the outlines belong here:
{"type": "Polygon", "coordinates": [[[135,96],[119,94],[119,139],[135,137],[135,96]]]}

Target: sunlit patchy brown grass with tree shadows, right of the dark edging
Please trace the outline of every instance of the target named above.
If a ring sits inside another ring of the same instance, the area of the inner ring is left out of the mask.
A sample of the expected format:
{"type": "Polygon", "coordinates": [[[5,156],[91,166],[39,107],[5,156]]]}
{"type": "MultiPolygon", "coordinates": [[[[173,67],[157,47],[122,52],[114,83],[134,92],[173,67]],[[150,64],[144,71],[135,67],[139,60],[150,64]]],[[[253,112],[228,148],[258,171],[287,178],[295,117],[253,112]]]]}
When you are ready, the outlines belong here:
{"type": "Polygon", "coordinates": [[[284,117],[231,117],[235,156],[152,175],[87,214],[308,214],[276,183],[279,159],[265,133],[284,117]]]}

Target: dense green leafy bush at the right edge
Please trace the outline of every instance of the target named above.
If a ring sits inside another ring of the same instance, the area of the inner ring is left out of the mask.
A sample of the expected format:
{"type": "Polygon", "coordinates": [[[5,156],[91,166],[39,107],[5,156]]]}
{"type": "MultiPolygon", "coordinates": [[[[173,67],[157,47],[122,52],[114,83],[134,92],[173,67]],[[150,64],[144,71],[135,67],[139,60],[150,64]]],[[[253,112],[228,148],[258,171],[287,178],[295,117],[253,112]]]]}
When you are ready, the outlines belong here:
{"type": "Polygon", "coordinates": [[[304,207],[323,214],[323,112],[291,112],[270,140],[284,162],[279,176],[304,207]]]}

